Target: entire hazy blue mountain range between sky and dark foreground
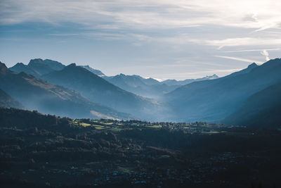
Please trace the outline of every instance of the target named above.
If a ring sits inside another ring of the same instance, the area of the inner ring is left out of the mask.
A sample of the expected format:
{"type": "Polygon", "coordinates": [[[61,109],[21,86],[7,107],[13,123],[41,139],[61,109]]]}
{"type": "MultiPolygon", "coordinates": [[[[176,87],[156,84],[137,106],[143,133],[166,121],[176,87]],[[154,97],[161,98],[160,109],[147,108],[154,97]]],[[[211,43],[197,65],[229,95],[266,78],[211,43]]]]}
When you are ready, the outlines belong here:
{"type": "Polygon", "coordinates": [[[159,82],[139,75],[110,77],[89,65],[65,66],[58,61],[33,59],[10,70],[1,63],[0,89],[6,92],[2,99],[14,99],[41,113],[70,117],[253,126],[272,120],[270,125],[277,126],[281,116],[280,73],[281,59],[276,58],[262,65],[252,63],[225,77],[159,82]]]}

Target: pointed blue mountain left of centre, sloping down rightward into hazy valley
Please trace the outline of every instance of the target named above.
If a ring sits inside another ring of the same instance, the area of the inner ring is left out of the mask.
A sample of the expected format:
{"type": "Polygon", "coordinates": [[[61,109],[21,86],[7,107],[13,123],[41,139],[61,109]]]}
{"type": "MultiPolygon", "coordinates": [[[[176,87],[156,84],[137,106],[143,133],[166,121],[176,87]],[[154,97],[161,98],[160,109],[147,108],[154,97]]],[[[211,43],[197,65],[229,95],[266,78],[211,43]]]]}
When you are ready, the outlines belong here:
{"type": "Polygon", "coordinates": [[[155,101],[126,92],[74,63],[41,78],[52,84],[74,89],[92,101],[131,113],[138,118],[155,118],[157,113],[158,105],[155,101]]]}

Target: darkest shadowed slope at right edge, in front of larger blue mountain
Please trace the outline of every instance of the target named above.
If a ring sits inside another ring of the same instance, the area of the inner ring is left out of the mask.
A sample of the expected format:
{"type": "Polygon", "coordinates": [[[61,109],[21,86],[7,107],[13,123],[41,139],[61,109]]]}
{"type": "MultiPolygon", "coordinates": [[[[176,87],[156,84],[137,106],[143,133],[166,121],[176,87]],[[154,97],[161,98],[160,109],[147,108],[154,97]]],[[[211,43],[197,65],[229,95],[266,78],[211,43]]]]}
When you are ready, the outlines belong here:
{"type": "Polygon", "coordinates": [[[223,123],[251,127],[277,127],[281,125],[281,82],[249,96],[235,113],[223,123]]]}

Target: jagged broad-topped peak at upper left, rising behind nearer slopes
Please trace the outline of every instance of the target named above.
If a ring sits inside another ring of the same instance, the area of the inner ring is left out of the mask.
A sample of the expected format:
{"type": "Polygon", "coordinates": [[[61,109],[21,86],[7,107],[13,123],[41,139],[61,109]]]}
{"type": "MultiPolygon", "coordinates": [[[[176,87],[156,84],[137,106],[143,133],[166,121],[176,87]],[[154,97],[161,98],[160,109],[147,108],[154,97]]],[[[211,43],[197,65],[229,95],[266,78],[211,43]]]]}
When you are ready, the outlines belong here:
{"type": "Polygon", "coordinates": [[[54,70],[62,70],[65,67],[62,63],[58,61],[53,61],[50,59],[42,60],[41,58],[35,58],[30,60],[28,65],[23,63],[17,63],[10,68],[15,73],[27,73],[28,75],[33,75],[34,77],[40,77],[41,75],[51,73],[54,70]]]}

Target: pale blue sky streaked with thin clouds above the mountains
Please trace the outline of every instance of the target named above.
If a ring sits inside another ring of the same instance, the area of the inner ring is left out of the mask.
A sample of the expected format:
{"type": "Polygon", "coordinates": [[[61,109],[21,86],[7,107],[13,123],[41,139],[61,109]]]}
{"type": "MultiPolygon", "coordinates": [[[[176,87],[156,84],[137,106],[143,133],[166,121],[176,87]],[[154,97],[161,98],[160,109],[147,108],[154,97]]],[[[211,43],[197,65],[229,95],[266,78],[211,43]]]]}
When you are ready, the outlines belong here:
{"type": "Polygon", "coordinates": [[[160,80],[280,58],[280,0],[1,0],[0,61],[90,65],[160,80]]]}

